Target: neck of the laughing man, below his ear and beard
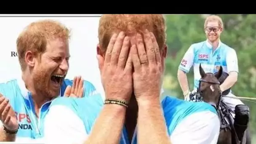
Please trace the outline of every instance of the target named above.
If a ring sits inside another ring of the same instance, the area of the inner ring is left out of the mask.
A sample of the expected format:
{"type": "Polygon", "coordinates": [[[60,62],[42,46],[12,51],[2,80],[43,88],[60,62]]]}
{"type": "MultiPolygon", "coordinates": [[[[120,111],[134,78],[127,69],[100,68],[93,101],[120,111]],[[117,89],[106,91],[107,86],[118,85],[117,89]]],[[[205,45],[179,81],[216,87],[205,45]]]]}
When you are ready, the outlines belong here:
{"type": "Polygon", "coordinates": [[[28,77],[26,74],[22,75],[22,80],[24,81],[25,87],[27,90],[31,93],[34,106],[35,106],[35,112],[38,114],[39,109],[42,107],[45,102],[49,101],[49,99],[45,99],[45,96],[42,95],[39,91],[36,91],[34,82],[30,77],[28,77]]]}

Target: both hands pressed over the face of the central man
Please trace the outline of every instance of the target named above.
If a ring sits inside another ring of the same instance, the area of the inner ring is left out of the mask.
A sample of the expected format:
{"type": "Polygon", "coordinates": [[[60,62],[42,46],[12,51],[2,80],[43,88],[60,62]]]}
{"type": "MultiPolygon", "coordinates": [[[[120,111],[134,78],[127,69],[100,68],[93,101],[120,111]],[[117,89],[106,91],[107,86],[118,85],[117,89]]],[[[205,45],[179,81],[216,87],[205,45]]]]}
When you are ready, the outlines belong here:
{"type": "Polygon", "coordinates": [[[112,35],[105,59],[97,55],[107,99],[159,101],[163,67],[156,38],[147,29],[135,37],[112,35]],[[134,69],[134,70],[133,70],[134,69]]]}

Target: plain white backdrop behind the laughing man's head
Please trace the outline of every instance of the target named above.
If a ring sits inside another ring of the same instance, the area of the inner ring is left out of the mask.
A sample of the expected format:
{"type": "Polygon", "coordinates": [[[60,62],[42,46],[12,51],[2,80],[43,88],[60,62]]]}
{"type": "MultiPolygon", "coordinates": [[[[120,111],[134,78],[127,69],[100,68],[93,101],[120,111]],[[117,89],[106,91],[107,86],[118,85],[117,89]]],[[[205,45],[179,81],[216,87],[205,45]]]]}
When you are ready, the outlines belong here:
{"type": "Polygon", "coordinates": [[[97,91],[104,96],[96,59],[99,17],[70,17],[70,15],[69,17],[3,17],[0,15],[0,82],[20,77],[18,57],[12,56],[11,53],[16,52],[16,39],[24,27],[40,19],[54,19],[72,29],[69,43],[70,68],[67,78],[73,79],[74,76],[81,75],[85,80],[93,83],[97,91]]]}

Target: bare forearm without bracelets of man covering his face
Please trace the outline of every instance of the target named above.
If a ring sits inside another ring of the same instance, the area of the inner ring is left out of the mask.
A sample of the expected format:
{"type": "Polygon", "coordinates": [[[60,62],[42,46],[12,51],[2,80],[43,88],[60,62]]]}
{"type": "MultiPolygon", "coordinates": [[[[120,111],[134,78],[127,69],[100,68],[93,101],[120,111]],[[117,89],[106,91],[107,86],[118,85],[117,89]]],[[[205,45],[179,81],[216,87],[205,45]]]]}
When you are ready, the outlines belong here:
{"type": "Polygon", "coordinates": [[[160,100],[138,101],[138,144],[171,144],[160,100]]]}

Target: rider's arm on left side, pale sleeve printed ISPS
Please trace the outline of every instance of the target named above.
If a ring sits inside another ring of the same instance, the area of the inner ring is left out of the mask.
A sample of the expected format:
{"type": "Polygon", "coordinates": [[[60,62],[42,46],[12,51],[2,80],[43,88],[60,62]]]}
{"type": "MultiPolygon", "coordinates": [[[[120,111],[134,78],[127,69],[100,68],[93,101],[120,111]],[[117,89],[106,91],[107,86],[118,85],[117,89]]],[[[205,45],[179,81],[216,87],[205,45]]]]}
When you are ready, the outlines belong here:
{"type": "Polygon", "coordinates": [[[193,45],[191,45],[187,52],[185,53],[185,55],[183,56],[183,59],[181,60],[181,64],[179,65],[177,74],[179,85],[181,86],[184,95],[186,95],[189,92],[189,85],[186,73],[189,72],[189,69],[192,67],[193,64],[194,48],[193,45]]]}

